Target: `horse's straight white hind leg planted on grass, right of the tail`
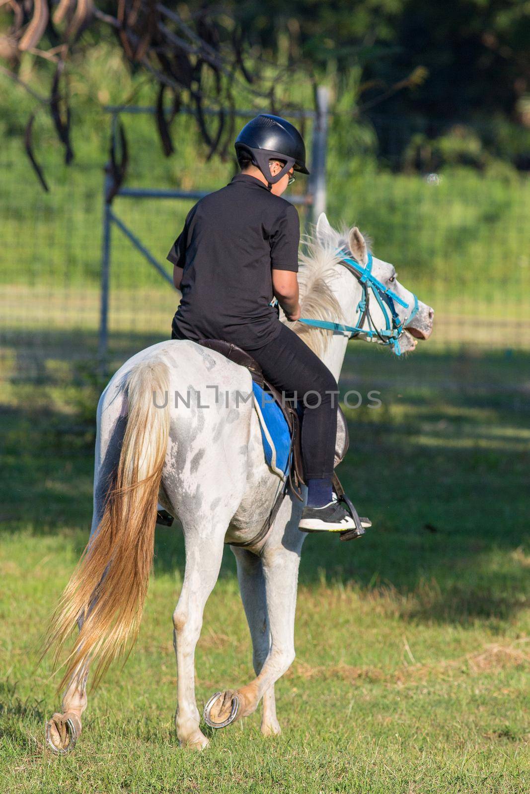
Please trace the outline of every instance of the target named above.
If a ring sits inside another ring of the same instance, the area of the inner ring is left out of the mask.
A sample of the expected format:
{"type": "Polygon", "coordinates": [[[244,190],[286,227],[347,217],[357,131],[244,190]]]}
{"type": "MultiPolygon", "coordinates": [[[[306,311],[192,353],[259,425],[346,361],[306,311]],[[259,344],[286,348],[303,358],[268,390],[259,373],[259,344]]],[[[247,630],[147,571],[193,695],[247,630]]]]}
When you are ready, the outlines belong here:
{"type": "Polygon", "coordinates": [[[173,613],[173,645],[177,668],[176,734],[181,746],[203,750],[208,739],[199,728],[200,715],[195,702],[195,646],[203,626],[207,598],[219,576],[226,523],[216,532],[184,523],[186,571],[180,598],[173,613]]]}

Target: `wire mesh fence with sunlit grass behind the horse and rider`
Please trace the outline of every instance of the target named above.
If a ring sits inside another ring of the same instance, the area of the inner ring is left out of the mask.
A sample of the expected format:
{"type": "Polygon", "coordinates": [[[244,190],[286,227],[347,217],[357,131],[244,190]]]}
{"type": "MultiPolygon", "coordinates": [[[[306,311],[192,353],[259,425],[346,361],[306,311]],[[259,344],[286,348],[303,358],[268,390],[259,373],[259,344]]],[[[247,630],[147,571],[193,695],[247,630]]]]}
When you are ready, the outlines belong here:
{"type": "MultiPolygon", "coordinates": [[[[181,135],[176,130],[183,148],[171,163],[157,151],[151,126],[139,131],[137,121],[128,123],[137,138],[130,187],[209,191],[234,174],[232,161],[191,156],[189,120],[181,135]]],[[[434,306],[429,349],[530,350],[528,175],[461,165],[429,174],[352,170],[338,141],[332,130],[328,217],[334,225],[359,225],[375,254],[396,265],[401,283],[434,306]]],[[[66,169],[54,155],[52,190],[44,193],[18,148],[0,152],[0,380],[46,380],[96,360],[105,159],[103,151],[81,156],[66,169]]],[[[113,208],[164,262],[192,203],[118,196],[113,208]]],[[[177,303],[176,291],[114,233],[111,364],[168,338],[177,303]]]]}

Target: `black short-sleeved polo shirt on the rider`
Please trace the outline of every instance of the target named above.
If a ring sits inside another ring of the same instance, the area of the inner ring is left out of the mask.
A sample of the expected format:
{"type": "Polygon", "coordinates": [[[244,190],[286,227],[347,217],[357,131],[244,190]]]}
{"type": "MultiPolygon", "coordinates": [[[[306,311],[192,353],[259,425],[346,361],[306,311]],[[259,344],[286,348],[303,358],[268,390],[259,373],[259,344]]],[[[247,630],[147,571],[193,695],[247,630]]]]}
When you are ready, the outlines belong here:
{"type": "Polygon", "coordinates": [[[280,333],[272,268],[298,271],[295,207],[248,174],[201,198],[168,260],[184,268],[172,336],[258,349],[280,333]]]}

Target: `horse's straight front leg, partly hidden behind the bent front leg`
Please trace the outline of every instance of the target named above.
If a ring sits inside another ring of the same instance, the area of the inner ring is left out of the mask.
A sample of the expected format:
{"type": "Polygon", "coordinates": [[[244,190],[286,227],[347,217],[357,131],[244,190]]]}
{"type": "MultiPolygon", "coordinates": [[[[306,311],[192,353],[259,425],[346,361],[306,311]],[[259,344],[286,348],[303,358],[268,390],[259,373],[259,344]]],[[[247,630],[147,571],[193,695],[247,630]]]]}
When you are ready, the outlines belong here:
{"type": "MultiPolygon", "coordinates": [[[[239,589],[252,638],[253,667],[256,675],[259,675],[270,650],[270,628],[263,566],[261,558],[256,554],[236,546],[231,548],[238,564],[239,589]]],[[[276,715],[274,684],[267,689],[263,696],[261,733],[264,736],[281,733],[276,715]]]]}

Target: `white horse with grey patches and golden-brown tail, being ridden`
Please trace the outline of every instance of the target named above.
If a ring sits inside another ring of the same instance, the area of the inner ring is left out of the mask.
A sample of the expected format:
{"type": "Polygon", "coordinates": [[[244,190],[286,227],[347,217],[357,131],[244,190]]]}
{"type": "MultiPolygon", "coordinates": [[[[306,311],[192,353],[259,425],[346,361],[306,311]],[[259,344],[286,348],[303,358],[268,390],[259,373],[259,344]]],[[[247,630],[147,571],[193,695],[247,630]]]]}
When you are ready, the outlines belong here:
{"type": "MultiPolygon", "coordinates": [[[[337,233],[320,216],[315,240],[300,255],[302,314],[354,325],[362,296],[358,279],[340,264],[337,250],[368,261],[357,228],[337,233]]],[[[373,257],[373,275],[405,303],[392,264],[373,257]]],[[[397,307],[401,320],[410,311],[397,307]]],[[[433,310],[424,303],[400,337],[401,350],[427,339],[433,310]]],[[[380,306],[373,325],[383,327],[380,306]]],[[[290,326],[338,380],[348,333],[290,326]]],[[[369,338],[361,334],[360,338],[369,338]]],[[[265,462],[252,400],[250,372],[192,341],[164,341],[123,364],[103,391],[95,445],[94,517],[91,539],[72,575],[50,629],[58,649],[79,625],[68,657],[62,713],[47,723],[48,745],[71,750],[87,707],[89,664],[95,680],[136,638],[153,560],[157,503],[184,531],[186,569],[173,613],[177,664],[176,732],[181,746],[204,748],[195,703],[195,645],[208,595],[219,575],[226,543],[252,541],[269,515],[280,480],[265,462]]],[[[242,601],[253,642],[256,677],[207,704],[209,724],[223,727],[251,714],[263,700],[261,732],[279,734],[274,683],[295,657],[294,621],[303,503],[285,498],[269,534],[246,548],[232,546],[242,601]]],[[[47,646],[47,647],[48,647],[47,646]]]]}

